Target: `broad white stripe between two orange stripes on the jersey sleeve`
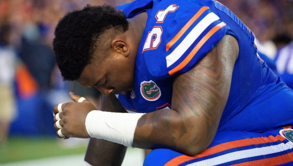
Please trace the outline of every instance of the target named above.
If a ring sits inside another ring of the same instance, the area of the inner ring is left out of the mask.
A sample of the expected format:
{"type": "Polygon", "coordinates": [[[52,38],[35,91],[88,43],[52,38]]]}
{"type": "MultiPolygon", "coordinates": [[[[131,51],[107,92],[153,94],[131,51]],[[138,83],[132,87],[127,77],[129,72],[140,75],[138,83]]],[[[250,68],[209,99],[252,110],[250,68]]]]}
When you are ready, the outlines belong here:
{"type": "Polygon", "coordinates": [[[183,41],[170,53],[166,56],[167,68],[175,63],[185,51],[193,44],[193,42],[200,36],[200,34],[214,21],[219,20],[220,18],[214,14],[207,14],[183,39],[183,41]]]}

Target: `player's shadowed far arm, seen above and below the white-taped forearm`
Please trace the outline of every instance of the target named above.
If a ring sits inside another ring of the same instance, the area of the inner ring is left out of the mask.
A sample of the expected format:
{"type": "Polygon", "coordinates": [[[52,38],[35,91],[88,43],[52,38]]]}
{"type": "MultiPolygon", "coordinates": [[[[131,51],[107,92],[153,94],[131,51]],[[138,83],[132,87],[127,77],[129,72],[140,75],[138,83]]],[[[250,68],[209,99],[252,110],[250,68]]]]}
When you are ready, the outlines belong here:
{"type": "MultiPolygon", "coordinates": [[[[126,112],[114,94],[102,97],[101,110],[126,112]]],[[[84,160],[91,165],[121,165],[125,152],[126,147],[121,144],[91,138],[84,160]]]]}

